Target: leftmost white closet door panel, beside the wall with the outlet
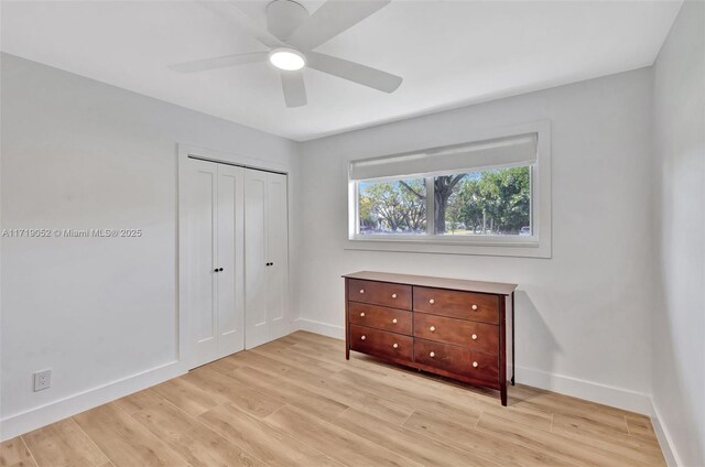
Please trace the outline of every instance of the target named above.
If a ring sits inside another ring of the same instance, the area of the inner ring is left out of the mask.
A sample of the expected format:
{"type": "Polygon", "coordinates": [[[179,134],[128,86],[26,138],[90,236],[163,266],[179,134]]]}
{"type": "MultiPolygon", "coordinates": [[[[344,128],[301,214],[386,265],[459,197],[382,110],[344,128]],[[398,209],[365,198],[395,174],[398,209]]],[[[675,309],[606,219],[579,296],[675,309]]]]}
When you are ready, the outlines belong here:
{"type": "Polygon", "coordinates": [[[191,367],[218,352],[216,305],[217,166],[188,160],[188,321],[191,367]]]}

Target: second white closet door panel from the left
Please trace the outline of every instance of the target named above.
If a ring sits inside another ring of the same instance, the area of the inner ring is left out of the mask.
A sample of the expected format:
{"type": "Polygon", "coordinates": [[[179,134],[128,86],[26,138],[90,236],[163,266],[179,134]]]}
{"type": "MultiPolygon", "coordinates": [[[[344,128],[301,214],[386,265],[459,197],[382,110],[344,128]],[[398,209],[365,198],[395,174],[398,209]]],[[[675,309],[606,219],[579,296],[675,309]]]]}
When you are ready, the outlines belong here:
{"type": "Polygon", "coordinates": [[[218,166],[217,334],[223,358],[245,348],[243,176],[242,167],[218,166]],[[223,271],[220,271],[223,268],[223,271]]]}

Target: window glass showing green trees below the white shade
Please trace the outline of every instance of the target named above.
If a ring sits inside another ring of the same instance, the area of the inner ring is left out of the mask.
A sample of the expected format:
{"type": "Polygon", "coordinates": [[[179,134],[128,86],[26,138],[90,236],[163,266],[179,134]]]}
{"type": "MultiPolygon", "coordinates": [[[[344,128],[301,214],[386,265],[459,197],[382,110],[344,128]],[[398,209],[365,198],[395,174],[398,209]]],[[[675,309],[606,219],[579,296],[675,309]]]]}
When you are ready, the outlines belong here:
{"type": "Polygon", "coordinates": [[[357,193],[361,236],[531,236],[529,165],[359,181],[357,193]]]}

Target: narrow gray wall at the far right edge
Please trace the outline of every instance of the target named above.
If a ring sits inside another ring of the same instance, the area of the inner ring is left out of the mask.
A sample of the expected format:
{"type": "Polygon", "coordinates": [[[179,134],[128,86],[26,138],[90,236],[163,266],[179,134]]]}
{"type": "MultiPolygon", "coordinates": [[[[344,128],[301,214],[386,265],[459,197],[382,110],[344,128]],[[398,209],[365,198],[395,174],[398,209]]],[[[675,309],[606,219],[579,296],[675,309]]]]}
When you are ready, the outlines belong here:
{"type": "Polygon", "coordinates": [[[705,3],[686,1],[653,68],[660,302],[653,403],[683,466],[705,465],[705,3]]]}

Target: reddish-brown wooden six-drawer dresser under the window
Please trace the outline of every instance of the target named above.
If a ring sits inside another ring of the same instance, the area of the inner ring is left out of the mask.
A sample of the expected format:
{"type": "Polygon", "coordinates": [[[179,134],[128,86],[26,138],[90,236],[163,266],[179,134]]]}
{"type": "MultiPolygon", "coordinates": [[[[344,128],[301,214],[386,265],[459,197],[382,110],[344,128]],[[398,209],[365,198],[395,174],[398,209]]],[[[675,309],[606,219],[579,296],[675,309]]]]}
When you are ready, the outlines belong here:
{"type": "Polygon", "coordinates": [[[495,389],[507,405],[516,284],[370,271],[343,278],[346,358],[355,350],[495,389]]]}

